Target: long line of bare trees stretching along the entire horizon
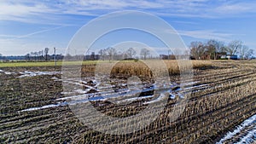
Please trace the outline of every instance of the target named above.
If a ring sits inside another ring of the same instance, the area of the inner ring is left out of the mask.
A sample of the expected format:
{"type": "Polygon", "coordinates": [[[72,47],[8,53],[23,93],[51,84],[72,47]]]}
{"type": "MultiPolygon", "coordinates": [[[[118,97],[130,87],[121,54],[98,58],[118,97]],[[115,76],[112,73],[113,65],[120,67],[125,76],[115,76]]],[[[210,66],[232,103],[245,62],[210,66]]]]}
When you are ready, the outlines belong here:
{"type": "MultiPolygon", "coordinates": [[[[54,48],[55,49],[55,48],[54,48]]],[[[170,51],[170,50],[169,50],[170,51]]],[[[175,60],[177,55],[160,55],[160,59],[172,59],[175,60]]],[[[148,59],[150,55],[149,49],[140,49],[139,54],[134,48],[125,49],[124,51],[118,51],[113,47],[108,47],[107,49],[100,49],[98,55],[95,55],[94,52],[91,55],[65,55],[70,57],[68,60],[134,60],[134,59],[148,59]]],[[[228,44],[225,44],[223,41],[218,40],[207,40],[207,42],[202,43],[200,41],[191,42],[189,45],[189,51],[187,54],[191,59],[195,60],[218,60],[218,59],[227,59],[227,56],[239,55],[241,60],[250,59],[253,56],[253,49],[249,49],[247,45],[243,44],[240,40],[231,41],[228,44]]],[[[0,59],[8,59],[6,56],[0,54],[0,59]]],[[[15,56],[11,57],[12,60],[17,59],[22,60],[62,60],[64,55],[49,55],[49,48],[45,48],[36,52],[31,52],[25,56],[15,56]]],[[[150,59],[153,59],[150,57],[150,59]]]]}

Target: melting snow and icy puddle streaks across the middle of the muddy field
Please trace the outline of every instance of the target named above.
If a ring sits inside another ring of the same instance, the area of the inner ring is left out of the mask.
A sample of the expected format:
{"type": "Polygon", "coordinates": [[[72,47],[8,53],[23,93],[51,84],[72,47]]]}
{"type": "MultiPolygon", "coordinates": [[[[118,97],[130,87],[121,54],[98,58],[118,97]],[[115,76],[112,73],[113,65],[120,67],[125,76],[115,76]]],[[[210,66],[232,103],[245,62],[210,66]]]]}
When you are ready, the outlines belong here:
{"type": "MultiPolygon", "coordinates": [[[[19,78],[23,77],[34,77],[38,75],[55,75],[61,72],[20,72],[22,74],[19,78]]],[[[21,112],[26,111],[34,111],[34,110],[40,110],[44,108],[49,107],[60,107],[65,105],[75,105],[78,103],[84,103],[88,101],[111,101],[113,99],[116,103],[124,103],[124,102],[130,102],[130,101],[138,101],[143,100],[147,98],[154,97],[153,93],[160,94],[157,98],[144,102],[144,104],[153,103],[156,101],[160,101],[166,96],[169,96],[171,99],[175,99],[177,96],[180,99],[184,99],[184,93],[183,86],[188,85],[189,90],[193,89],[194,86],[192,84],[196,84],[198,82],[189,82],[185,84],[177,84],[177,83],[163,83],[163,84],[141,84],[142,87],[134,89],[124,88],[124,86],[128,86],[125,84],[125,81],[119,81],[116,80],[116,84],[110,84],[110,83],[100,83],[100,81],[95,80],[94,77],[91,78],[66,78],[61,79],[57,77],[51,78],[55,81],[62,81],[62,83],[67,84],[74,84],[83,86],[86,89],[67,89],[67,91],[61,92],[63,95],[67,95],[66,97],[58,98],[55,101],[65,101],[65,102],[59,102],[57,104],[52,105],[46,105],[44,107],[32,107],[28,108],[26,110],[22,110],[21,112]],[[190,86],[191,85],[191,86],[190,86]],[[90,90],[94,90],[95,92],[90,93],[90,90]],[[143,94],[141,96],[137,96],[143,94]],[[165,95],[164,95],[165,94],[165,95]],[[168,94],[168,95],[166,95],[168,94]],[[68,101],[68,102],[66,102],[68,101]]],[[[113,79],[112,82],[115,82],[113,79]]],[[[205,86],[205,85],[203,85],[205,86]]]]}

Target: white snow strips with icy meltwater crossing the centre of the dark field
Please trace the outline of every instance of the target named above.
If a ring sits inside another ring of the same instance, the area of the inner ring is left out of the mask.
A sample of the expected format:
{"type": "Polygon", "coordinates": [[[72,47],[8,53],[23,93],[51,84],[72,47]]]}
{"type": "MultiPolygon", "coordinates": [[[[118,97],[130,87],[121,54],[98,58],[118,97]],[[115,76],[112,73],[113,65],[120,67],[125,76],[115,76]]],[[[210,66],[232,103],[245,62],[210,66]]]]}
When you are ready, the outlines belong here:
{"type": "MultiPolygon", "coordinates": [[[[34,77],[34,76],[38,76],[38,75],[55,75],[57,73],[61,73],[61,72],[20,72],[21,75],[19,78],[23,78],[23,77],[34,77]]],[[[184,98],[184,95],[179,94],[179,93],[173,93],[172,92],[172,88],[175,88],[177,86],[179,86],[179,84],[159,84],[158,86],[156,86],[156,84],[151,85],[150,87],[148,87],[148,84],[143,84],[141,89],[113,89],[116,86],[112,85],[112,84],[101,84],[99,81],[93,80],[93,78],[66,78],[66,79],[61,79],[61,78],[56,78],[53,77],[52,79],[54,79],[55,81],[62,81],[63,83],[67,83],[67,84],[76,84],[79,86],[85,86],[88,89],[71,89],[71,91],[64,91],[61,92],[61,94],[63,95],[68,95],[67,97],[62,97],[59,99],[56,99],[55,101],[63,101],[63,100],[70,100],[69,102],[60,102],[58,104],[51,104],[51,105],[46,105],[44,107],[32,107],[32,108],[28,108],[25,110],[22,110],[21,112],[26,112],[26,111],[34,111],[34,110],[39,110],[39,109],[44,109],[44,108],[49,108],[49,107],[60,107],[60,106],[65,106],[65,105],[75,105],[77,103],[84,103],[87,101],[104,101],[107,99],[112,99],[112,98],[121,98],[118,101],[116,101],[117,103],[119,102],[125,102],[125,101],[137,101],[137,100],[142,100],[142,99],[146,99],[149,97],[153,97],[153,95],[147,95],[147,96],[142,96],[142,97],[134,97],[135,95],[141,93],[141,92],[147,92],[150,90],[155,90],[155,89],[160,89],[163,90],[162,92],[167,92],[168,89],[170,90],[170,98],[175,99],[176,95],[179,96],[180,98],[184,98]],[[90,86],[88,85],[88,82],[91,81],[93,83],[94,86],[90,86]],[[90,89],[95,89],[97,92],[96,93],[90,93],[88,94],[88,92],[90,91],[90,89]],[[75,95],[75,94],[82,94],[82,95],[75,95]],[[71,95],[71,96],[69,96],[71,95]]],[[[119,81],[117,81],[119,82],[119,81]]],[[[186,84],[195,84],[197,82],[189,82],[186,84]]],[[[120,85],[126,86],[127,84],[122,84],[119,83],[120,85]]],[[[179,91],[179,90],[183,90],[181,88],[176,89],[174,91],[179,91]]],[[[164,99],[166,97],[166,95],[160,94],[160,96],[156,99],[154,99],[153,101],[148,101],[145,102],[144,104],[149,104],[149,103],[153,103],[156,101],[160,101],[162,99],[164,99]]]]}

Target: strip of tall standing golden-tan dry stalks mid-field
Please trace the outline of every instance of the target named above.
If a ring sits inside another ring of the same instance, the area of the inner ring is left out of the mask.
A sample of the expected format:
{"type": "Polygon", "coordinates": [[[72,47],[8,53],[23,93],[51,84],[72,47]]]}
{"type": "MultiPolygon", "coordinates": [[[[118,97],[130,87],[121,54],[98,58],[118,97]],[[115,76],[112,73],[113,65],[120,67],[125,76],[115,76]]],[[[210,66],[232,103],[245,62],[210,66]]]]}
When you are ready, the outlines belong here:
{"type": "Polygon", "coordinates": [[[153,78],[158,77],[158,74],[166,76],[166,73],[170,76],[178,75],[181,71],[194,69],[206,69],[212,66],[211,61],[207,60],[124,60],[99,62],[96,65],[84,65],[82,66],[82,72],[107,72],[112,77],[131,77],[136,75],[141,78],[153,78]],[[192,61],[192,62],[191,62],[192,61]],[[192,64],[192,67],[189,66],[192,64]]]}

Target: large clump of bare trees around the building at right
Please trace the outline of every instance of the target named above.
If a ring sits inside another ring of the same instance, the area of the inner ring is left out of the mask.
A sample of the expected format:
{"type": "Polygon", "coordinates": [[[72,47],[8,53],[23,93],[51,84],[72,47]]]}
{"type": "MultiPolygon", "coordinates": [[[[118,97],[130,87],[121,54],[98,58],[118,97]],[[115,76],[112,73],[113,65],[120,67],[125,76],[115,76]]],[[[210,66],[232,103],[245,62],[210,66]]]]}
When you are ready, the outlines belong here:
{"type": "Polygon", "coordinates": [[[189,55],[196,60],[217,60],[226,55],[239,55],[241,60],[245,60],[253,56],[253,49],[249,49],[240,40],[233,40],[228,44],[212,39],[207,43],[195,41],[190,43],[189,49],[189,55]]]}

